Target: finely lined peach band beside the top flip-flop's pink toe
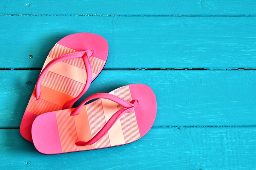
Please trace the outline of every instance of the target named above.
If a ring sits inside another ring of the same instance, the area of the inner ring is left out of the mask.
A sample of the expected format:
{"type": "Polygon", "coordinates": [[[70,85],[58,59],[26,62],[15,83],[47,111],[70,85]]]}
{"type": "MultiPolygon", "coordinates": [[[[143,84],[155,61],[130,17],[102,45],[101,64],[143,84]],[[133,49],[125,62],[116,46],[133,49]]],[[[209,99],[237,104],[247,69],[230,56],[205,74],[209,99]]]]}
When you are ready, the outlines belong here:
{"type": "MultiPolygon", "coordinates": [[[[126,101],[132,101],[128,85],[114,90],[114,94],[126,101]]],[[[118,110],[124,109],[124,107],[119,104],[117,104],[117,108],[118,110]]],[[[123,129],[124,140],[126,141],[126,143],[130,143],[140,138],[140,132],[134,111],[130,113],[124,113],[120,117],[120,120],[123,129]]]]}

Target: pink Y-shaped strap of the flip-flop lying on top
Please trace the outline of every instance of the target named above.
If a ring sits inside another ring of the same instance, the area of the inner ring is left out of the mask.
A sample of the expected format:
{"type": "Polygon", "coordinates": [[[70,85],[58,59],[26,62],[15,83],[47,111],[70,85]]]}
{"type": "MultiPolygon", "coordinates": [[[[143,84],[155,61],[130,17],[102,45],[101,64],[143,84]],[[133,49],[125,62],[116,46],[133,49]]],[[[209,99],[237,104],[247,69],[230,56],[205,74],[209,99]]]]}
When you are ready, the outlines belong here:
{"type": "Polygon", "coordinates": [[[95,142],[97,142],[99,139],[101,139],[109,130],[110,128],[115,124],[115,122],[124,114],[124,113],[129,113],[132,112],[135,107],[138,105],[138,101],[137,100],[133,100],[131,102],[128,102],[124,99],[122,99],[121,97],[115,96],[113,94],[109,94],[109,93],[97,93],[97,94],[93,94],[89,97],[87,97],[87,99],[85,99],[71,114],[70,116],[75,116],[79,113],[79,111],[81,110],[81,108],[83,107],[83,105],[85,105],[85,103],[87,103],[90,100],[93,99],[108,99],[108,100],[112,100],[120,105],[122,105],[123,107],[125,107],[126,109],[121,109],[119,111],[117,111],[114,115],[112,115],[112,117],[106,122],[106,124],[103,126],[103,128],[101,128],[101,130],[90,140],[88,141],[78,141],[76,143],[77,146],[86,146],[86,145],[91,145],[94,144],[95,142]]]}

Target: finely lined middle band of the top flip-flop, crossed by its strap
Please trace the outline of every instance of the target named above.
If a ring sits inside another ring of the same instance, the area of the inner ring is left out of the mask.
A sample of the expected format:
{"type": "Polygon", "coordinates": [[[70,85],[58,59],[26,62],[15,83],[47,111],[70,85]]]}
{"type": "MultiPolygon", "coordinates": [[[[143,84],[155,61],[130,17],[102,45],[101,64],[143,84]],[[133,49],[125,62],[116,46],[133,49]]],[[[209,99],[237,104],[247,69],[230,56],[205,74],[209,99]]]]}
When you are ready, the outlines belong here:
{"type": "MultiPolygon", "coordinates": [[[[86,105],[87,113],[89,117],[89,123],[91,126],[92,136],[95,136],[101,128],[106,124],[101,100],[98,99],[92,103],[86,105]]],[[[100,140],[95,142],[94,148],[102,148],[110,146],[109,136],[106,133],[100,140]]]]}

